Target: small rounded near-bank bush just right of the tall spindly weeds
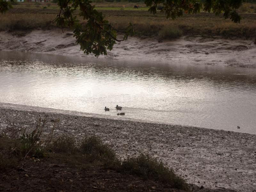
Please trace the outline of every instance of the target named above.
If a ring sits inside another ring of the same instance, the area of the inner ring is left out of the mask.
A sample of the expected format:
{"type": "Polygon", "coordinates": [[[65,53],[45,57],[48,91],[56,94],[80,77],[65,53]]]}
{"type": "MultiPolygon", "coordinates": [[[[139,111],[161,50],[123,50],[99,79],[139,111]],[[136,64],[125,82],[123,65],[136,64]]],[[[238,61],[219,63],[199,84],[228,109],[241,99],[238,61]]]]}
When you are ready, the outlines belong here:
{"type": "Polygon", "coordinates": [[[56,153],[74,154],[77,150],[76,141],[70,136],[59,136],[49,148],[56,153]]]}

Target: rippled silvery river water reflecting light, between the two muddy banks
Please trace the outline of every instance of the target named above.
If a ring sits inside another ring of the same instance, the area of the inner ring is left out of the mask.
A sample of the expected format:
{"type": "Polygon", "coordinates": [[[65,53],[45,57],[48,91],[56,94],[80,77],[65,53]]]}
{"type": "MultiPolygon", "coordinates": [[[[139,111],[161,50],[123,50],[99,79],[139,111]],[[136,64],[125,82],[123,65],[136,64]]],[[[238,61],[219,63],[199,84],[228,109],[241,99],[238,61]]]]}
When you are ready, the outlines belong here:
{"type": "Polygon", "coordinates": [[[256,134],[253,68],[0,51],[0,102],[256,134]]]}

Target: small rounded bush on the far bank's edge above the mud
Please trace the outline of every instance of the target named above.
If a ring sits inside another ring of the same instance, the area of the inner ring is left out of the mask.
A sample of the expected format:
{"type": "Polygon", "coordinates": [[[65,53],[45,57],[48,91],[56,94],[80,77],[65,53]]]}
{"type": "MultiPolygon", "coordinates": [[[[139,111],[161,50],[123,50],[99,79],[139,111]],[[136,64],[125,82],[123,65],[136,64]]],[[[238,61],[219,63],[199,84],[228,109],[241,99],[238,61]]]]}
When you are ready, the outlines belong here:
{"type": "Polygon", "coordinates": [[[173,26],[164,26],[164,28],[159,31],[158,36],[160,40],[172,40],[180,38],[180,36],[182,36],[182,31],[173,26]]]}

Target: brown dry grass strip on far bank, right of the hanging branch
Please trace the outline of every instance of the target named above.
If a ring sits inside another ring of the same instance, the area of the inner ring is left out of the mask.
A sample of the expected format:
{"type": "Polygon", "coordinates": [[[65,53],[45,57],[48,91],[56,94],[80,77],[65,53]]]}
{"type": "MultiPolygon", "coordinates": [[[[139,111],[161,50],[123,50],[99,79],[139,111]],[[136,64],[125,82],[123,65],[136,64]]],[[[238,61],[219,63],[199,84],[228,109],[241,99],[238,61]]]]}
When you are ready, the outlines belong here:
{"type": "Polygon", "coordinates": [[[176,20],[163,17],[116,17],[108,19],[116,29],[125,31],[125,26],[132,22],[136,35],[157,35],[164,28],[180,29],[183,35],[207,35],[239,38],[256,37],[256,15],[243,15],[241,24],[234,24],[230,20],[216,17],[211,13],[198,15],[184,15],[176,20]],[[204,17],[205,16],[205,17],[204,17]]]}

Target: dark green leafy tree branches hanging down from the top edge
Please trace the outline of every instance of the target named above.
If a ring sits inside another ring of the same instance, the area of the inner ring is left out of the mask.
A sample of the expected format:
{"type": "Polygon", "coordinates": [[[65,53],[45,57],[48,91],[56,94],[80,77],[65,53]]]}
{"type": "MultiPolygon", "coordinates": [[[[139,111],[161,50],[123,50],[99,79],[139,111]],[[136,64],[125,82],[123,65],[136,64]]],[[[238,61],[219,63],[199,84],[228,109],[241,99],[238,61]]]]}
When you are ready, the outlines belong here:
{"type": "MultiPolygon", "coordinates": [[[[161,12],[165,13],[166,18],[175,19],[184,13],[199,13],[203,10],[216,15],[223,13],[225,19],[236,23],[241,20],[236,10],[242,3],[243,0],[145,0],[148,11],[153,14],[157,13],[159,5],[163,6],[161,12]]],[[[58,6],[60,12],[55,19],[56,23],[74,30],[76,42],[86,54],[107,54],[107,50],[113,49],[116,42],[126,40],[133,33],[132,24],[129,24],[124,38],[118,39],[118,31],[101,12],[95,10],[90,0],[58,0],[58,6]],[[77,19],[76,10],[86,21],[85,24],[77,19]]],[[[0,13],[7,12],[10,8],[10,2],[0,0],[0,13]]]]}

